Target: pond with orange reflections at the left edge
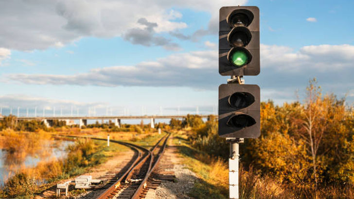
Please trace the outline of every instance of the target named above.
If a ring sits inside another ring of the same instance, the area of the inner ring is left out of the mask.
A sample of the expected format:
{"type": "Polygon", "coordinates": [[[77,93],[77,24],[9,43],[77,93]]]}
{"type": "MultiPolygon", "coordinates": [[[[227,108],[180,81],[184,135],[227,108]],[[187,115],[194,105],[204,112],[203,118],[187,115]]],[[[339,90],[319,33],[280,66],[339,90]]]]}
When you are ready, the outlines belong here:
{"type": "MultiPolygon", "coordinates": [[[[9,154],[6,150],[0,149],[0,185],[3,185],[9,177],[15,175],[17,171],[24,168],[31,168],[39,162],[48,162],[53,159],[65,158],[65,149],[73,144],[72,141],[54,140],[48,141],[43,149],[35,154],[24,154],[22,157],[9,154]],[[45,154],[43,154],[45,151],[45,154]]],[[[19,146],[20,147],[20,146],[19,146]]]]}

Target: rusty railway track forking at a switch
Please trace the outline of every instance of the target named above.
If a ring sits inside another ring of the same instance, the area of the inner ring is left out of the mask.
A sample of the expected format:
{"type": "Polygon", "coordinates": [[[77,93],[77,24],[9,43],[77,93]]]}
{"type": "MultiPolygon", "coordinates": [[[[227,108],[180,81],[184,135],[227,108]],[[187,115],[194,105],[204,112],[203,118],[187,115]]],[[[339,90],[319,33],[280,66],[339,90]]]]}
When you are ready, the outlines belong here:
{"type": "MultiPolygon", "coordinates": [[[[148,179],[154,168],[158,165],[159,160],[167,145],[170,134],[163,136],[152,149],[145,149],[141,146],[131,143],[111,140],[111,142],[123,144],[135,151],[136,157],[130,161],[130,165],[117,174],[116,181],[110,181],[104,188],[107,188],[98,199],[140,199],[145,198],[148,188],[154,188],[154,182],[148,179]],[[162,146],[159,146],[162,142],[162,146]]],[[[100,138],[91,138],[97,140],[105,140],[100,138]]],[[[156,184],[155,184],[156,185],[156,184]]]]}

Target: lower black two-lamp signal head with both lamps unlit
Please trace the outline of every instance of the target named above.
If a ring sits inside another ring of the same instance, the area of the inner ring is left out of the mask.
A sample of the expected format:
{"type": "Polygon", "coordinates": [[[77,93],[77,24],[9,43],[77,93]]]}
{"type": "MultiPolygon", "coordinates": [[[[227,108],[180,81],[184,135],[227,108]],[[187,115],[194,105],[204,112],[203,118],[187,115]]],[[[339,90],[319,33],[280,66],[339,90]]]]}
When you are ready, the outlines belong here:
{"type": "Polygon", "coordinates": [[[251,84],[219,86],[219,135],[255,138],[260,131],[260,88],[251,84]]]}

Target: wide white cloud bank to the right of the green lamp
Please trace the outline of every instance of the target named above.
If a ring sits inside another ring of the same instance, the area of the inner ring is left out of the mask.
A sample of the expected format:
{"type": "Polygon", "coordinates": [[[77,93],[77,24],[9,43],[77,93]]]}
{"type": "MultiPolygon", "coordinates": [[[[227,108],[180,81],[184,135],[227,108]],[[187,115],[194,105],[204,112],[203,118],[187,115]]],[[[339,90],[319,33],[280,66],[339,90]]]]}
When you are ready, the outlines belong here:
{"type": "Polygon", "coordinates": [[[285,46],[261,44],[261,65],[276,70],[299,72],[303,69],[334,71],[354,66],[354,46],[304,46],[298,51],[285,46]]]}

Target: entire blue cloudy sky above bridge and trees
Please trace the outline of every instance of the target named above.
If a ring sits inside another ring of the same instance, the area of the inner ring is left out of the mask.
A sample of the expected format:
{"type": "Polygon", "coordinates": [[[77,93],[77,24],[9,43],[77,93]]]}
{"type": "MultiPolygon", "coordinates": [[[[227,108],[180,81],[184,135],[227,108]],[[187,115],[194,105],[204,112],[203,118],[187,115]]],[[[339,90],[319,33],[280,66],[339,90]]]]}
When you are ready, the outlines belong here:
{"type": "Polygon", "coordinates": [[[352,0],[0,0],[0,113],[214,114],[218,15],[260,9],[261,100],[354,101],[352,0]]]}

